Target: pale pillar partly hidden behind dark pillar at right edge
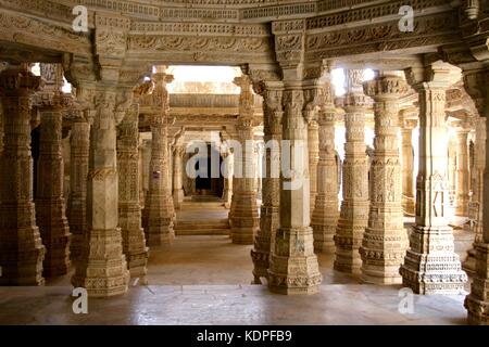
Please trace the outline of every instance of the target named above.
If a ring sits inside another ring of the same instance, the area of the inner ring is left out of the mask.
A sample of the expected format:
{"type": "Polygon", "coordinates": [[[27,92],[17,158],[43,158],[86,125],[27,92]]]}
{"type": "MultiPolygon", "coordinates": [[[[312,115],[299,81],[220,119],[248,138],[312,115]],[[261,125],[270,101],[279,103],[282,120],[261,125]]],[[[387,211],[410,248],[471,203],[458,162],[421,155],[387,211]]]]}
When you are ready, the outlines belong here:
{"type": "Polygon", "coordinates": [[[463,262],[463,269],[474,275],[476,270],[476,245],[482,242],[482,217],[484,217],[484,171],[486,169],[486,118],[476,120],[476,136],[473,166],[473,188],[469,202],[472,230],[474,232],[474,244],[467,250],[467,258],[463,262]]]}

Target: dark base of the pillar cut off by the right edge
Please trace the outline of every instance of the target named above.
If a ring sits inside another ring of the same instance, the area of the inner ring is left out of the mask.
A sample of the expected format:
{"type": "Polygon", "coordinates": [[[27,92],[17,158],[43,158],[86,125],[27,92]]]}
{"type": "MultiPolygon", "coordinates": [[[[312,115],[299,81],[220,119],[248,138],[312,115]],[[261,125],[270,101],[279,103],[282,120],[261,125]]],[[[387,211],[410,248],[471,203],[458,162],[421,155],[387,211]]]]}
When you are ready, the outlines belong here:
{"type": "Polygon", "coordinates": [[[475,250],[476,272],[464,306],[469,324],[489,325],[489,244],[477,244],[475,250]]]}

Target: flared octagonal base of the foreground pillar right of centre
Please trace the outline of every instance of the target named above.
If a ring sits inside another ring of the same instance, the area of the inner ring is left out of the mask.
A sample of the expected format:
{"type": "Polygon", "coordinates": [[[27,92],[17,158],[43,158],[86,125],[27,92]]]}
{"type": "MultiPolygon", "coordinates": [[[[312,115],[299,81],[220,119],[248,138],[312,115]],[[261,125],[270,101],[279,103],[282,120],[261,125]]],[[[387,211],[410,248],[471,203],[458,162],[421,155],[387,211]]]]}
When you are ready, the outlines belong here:
{"type": "Polygon", "coordinates": [[[322,281],[312,229],[277,230],[269,256],[268,290],[285,295],[316,294],[322,281]]]}

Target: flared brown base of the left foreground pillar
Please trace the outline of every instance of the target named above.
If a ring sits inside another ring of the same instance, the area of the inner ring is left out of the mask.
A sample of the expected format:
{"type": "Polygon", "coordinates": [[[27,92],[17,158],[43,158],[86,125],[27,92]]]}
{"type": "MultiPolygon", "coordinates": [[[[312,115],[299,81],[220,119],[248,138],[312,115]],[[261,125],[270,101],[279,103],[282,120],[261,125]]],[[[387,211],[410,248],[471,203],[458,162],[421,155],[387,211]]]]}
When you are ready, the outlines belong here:
{"type": "Polygon", "coordinates": [[[72,278],[74,287],[87,290],[90,297],[110,297],[128,290],[129,271],[122,252],[121,230],[88,232],[82,257],[72,278]]]}

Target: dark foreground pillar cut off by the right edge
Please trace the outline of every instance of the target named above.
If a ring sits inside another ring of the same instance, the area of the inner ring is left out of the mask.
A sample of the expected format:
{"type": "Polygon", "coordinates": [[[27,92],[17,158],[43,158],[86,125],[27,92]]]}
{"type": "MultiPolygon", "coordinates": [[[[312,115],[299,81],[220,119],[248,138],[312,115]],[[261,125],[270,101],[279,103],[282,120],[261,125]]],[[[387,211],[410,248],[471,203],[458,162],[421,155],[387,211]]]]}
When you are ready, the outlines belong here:
{"type": "MultiPolygon", "coordinates": [[[[486,69],[466,73],[464,85],[467,92],[474,99],[479,115],[487,118],[489,114],[489,72],[486,69]]],[[[486,163],[489,162],[489,127],[486,126],[486,163]]],[[[481,214],[481,240],[474,243],[476,250],[476,266],[471,294],[465,298],[464,306],[467,309],[469,324],[489,325],[489,169],[484,171],[482,214],[481,214]]]]}

